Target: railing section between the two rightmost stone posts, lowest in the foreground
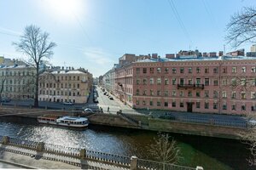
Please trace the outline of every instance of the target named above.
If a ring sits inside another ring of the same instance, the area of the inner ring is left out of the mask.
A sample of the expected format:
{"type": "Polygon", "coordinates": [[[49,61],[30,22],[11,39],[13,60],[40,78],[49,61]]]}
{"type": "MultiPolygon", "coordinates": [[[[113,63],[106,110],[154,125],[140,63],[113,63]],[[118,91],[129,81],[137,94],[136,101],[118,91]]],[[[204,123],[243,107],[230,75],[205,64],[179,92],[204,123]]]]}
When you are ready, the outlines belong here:
{"type": "Polygon", "coordinates": [[[162,163],[160,161],[149,161],[137,159],[137,168],[139,170],[195,170],[193,167],[183,167],[170,163],[162,163]]]}

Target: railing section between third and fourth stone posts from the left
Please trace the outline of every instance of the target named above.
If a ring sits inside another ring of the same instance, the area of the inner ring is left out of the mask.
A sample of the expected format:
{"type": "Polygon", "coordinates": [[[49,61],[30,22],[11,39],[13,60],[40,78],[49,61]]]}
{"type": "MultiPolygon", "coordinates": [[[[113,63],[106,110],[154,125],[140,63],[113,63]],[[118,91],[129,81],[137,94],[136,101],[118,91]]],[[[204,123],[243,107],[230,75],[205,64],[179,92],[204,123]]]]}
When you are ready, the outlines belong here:
{"type": "Polygon", "coordinates": [[[122,166],[130,166],[131,164],[131,158],[128,156],[113,155],[93,150],[86,150],[85,157],[97,161],[108,161],[110,163],[119,164],[122,166]]]}

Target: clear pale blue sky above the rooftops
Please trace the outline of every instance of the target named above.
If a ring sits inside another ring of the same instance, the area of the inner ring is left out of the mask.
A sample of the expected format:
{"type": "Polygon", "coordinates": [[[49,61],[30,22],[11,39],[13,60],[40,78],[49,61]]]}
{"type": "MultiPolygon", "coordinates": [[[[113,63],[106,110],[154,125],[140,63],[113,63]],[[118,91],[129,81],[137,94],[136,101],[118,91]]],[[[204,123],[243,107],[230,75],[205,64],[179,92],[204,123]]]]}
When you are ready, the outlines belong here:
{"type": "MultiPolygon", "coordinates": [[[[58,45],[52,65],[84,67],[98,77],[125,53],[223,50],[230,16],[255,5],[255,0],[0,0],[0,55],[23,58],[12,42],[33,24],[58,45]]],[[[248,51],[250,45],[241,48],[248,51]]]]}

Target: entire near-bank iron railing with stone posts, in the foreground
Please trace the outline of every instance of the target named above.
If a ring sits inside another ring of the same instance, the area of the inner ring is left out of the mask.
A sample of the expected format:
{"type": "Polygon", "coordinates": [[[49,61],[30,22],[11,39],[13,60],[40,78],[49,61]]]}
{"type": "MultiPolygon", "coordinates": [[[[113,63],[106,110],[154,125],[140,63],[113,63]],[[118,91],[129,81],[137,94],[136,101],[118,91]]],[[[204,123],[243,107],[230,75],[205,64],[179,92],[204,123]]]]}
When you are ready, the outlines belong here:
{"type": "Polygon", "coordinates": [[[203,170],[202,167],[183,167],[159,161],[143,160],[137,156],[119,156],[84,148],[16,139],[9,136],[0,136],[0,141],[2,152],[34,157],[36,160],[60,161],[82,169],[203,170]]]}

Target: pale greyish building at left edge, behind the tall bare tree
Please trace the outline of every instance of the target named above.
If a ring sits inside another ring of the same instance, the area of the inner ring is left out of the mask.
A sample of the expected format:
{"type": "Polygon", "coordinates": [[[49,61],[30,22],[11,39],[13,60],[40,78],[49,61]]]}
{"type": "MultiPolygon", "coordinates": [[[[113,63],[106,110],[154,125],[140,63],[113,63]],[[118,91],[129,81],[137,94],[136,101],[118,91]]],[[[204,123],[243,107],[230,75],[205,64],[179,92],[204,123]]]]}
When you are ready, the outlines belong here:
{"type": "Polygon", "coordinates": [[[36,70],[28,65],[0,68],[0,94],[2,98],[33,99],[36,70]]]}

